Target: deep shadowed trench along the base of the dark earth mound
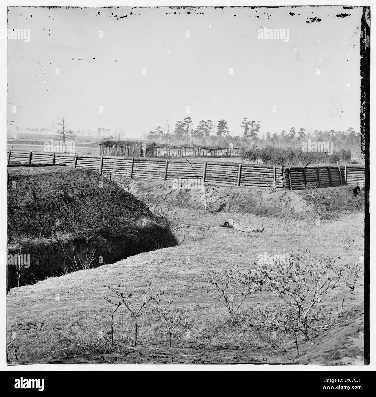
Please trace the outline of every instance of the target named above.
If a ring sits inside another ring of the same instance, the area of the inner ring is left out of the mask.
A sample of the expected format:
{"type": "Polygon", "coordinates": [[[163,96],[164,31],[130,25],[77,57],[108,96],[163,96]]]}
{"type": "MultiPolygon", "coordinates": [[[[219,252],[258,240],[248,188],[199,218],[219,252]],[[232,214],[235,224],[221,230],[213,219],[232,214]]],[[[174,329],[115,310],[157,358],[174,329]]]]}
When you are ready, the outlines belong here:
{"type": "MultiPolygon", "coordinates": [[[[22,251],[30,255],[30,266],[25,264],[25,267],[21,266],[17,269],[13,263],[7,264],[7,292],[13,287],[35,284],[46,278],[63,276],[75,270],[93,269],[116,263],[141,252],[194,243],[215,237],[217,233],[217,227],[178,223],[169,227],[154,227],[146,230],[137,241],[116,236],[107,240],[92,241],[77,238],[64,242],[33,240],[22,245],[22,251]]],[[[19,252],[18,245],[8,247],[8,255],[14,258],[19,252]]]]}

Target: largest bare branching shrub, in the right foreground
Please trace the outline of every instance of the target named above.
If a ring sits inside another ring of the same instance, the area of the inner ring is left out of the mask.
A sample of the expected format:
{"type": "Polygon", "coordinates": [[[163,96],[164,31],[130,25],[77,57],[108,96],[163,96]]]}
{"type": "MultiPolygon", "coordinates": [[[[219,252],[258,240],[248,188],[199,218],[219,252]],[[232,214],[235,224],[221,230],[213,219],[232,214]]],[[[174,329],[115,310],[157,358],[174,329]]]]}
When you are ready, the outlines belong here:
{"type": "MultiPolygon", "coordinates": [[[[298,250],[299,251],[299,250],[298,250]]],[[[340,258],[338,258],[340,259],[340,258]]],[[[256,272],[253,282],[256,291],[271,291],[286,304],[281,313],[280,325],[301,332],[305,340],[310,333],[330,327],[330,319],[324,311],[323,297],[332,289],[353,279],[358,271],[357,265],[341,266],[338,259],[328,256],[310,255],[309,250],[293,254],[289,263],[277,263],[274,269],[254,263],[256,272]]]]}

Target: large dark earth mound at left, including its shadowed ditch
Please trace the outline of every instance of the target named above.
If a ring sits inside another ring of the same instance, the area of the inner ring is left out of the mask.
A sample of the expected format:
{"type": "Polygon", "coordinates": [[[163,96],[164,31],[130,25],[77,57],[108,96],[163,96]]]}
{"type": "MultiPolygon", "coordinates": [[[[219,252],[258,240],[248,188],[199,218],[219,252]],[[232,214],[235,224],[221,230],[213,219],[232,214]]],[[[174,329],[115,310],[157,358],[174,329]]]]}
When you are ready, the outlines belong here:
{"type": "Polygon", "coordinates": [[[168,222],[96,172],[8,173],[8,287],[176,245],[168,222]]]}

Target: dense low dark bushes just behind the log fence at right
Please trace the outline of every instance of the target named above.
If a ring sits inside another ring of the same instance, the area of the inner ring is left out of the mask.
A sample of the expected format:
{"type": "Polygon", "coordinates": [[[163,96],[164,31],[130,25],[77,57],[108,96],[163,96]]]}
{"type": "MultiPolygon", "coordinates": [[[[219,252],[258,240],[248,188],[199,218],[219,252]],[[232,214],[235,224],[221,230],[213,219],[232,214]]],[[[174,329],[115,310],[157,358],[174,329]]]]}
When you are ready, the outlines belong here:
{"type": "Polygon", "coordinates": [[[349,163],[351,151],[341,149],[334,150],[333,154],[323,152],[303,152],[295,148],[276,148],[266,146],[264,148],[252,148],[241,155],[242,162],[256,164],[284,164],[305,165],[309,164],[337,164],[349,163]]]}

